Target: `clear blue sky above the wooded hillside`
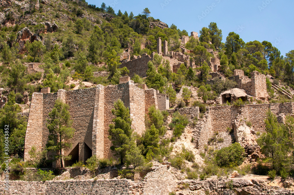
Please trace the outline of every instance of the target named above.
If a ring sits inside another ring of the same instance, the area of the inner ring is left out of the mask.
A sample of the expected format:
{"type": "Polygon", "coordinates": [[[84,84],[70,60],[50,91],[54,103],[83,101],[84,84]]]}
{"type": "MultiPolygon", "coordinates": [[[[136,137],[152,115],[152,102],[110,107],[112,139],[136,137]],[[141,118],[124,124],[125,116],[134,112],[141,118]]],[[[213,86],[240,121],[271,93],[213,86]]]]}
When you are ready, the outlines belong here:
{"type": "MultiPolygon", "coordinates": [[[[87,0],[86,0],[87,1],[87,0]]],[[[290,0],[149,0],[149,1],[94,1],[88,4],[98,7],[104,2],[117,13],[120,9],[136,16],[148,7],[151,16],[168,26],[175,24],[181,30],[198,32],[216,22],[222,30],[223,42],[234,31],[243,41],[269,41],[281,51],[281,55],[294,50],[293,7],[290,0]]]]}

